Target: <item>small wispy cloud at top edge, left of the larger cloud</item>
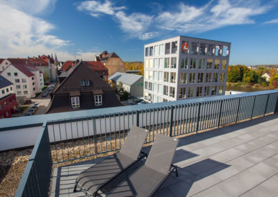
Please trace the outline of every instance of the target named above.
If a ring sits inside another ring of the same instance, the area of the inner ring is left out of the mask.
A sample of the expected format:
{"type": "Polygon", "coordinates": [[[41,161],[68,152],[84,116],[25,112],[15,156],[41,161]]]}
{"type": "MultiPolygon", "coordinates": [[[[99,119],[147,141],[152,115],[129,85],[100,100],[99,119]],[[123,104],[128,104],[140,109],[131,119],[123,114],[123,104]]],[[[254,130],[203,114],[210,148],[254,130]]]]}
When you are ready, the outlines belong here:
{"type": "Polygon", "coordinates": [[[79,11],[88,11],[92,17],[99,17],[101,14],[114,15],[115,12],[123,10],[125,7],[115,7],[111,1],[100,3],[99,1],[83,1],[77,9],[79,11]]]}

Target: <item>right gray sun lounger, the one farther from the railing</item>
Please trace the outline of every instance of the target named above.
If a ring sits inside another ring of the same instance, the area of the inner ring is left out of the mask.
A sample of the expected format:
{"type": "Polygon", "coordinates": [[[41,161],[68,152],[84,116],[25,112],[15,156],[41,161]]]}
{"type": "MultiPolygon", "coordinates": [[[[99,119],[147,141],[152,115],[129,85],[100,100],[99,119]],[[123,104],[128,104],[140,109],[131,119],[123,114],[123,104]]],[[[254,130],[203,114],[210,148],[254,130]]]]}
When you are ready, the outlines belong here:
{"type": "Polygon", "coordinates": [[[145,165],[118,185],[108,196],[152,196],[177,166],[172,165],[179,139],[156,135],[145,165]]]}

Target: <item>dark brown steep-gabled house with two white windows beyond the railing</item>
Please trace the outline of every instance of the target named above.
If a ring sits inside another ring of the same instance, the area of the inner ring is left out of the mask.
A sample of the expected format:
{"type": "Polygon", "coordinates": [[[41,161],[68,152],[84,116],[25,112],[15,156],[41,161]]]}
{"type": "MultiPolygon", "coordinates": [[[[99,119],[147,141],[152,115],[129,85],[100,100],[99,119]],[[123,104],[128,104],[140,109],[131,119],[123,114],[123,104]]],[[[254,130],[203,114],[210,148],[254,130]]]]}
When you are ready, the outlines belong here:
{"type": "Polygon", "coordinates": [[[70,112],[122,106],[115,91],[89,68],[88,62],[78,62],[68,76],[51,92],[47,113],[70,112]]]}

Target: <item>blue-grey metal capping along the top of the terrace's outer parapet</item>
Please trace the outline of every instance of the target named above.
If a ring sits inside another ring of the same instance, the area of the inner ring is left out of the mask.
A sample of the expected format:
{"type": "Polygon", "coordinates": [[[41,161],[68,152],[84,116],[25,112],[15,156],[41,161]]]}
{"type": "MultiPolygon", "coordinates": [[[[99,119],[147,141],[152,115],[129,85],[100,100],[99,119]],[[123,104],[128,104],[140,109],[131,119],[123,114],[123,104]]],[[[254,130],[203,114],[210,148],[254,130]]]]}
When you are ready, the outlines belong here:
{"type": "Polygon", "coordinates": [[[197,99],[184,99],[179,101],[169,101],[164,103],[149,103],[145,105],[128,105],[122,107],[114,107],[114,108],[101,108],[94,110],[81,110],[76,112],[60,112],[55,114],[41,114],[35,115],[32,117],[15,117],[12,119],[0,119],[0,132],[4,130],[15,130],[19,128],[31,128],[35,126],[42,126],[44,121],[56,121],[58,119],[79,119],[80,117],[84,117],[85,119],[93,116],[101,116],[104,114],[113,114],[113,113],[123,113],[123,112],[132,112],[136,110],[148,110],[151,108],[161,108],[167,107],[171,105],[180,105],[180,104],[188,104],[188,103],[202,103],[206,101],[218,101],[220,99],[233,99],[245,96],[257,96],[261,94],[272,94],[277,93],[278,89],[274,90],[265,90],[260,92],[247,92],[243,94],[231,94],[231,95],[222,95],[222,96],[208,96],[197,99]]]}

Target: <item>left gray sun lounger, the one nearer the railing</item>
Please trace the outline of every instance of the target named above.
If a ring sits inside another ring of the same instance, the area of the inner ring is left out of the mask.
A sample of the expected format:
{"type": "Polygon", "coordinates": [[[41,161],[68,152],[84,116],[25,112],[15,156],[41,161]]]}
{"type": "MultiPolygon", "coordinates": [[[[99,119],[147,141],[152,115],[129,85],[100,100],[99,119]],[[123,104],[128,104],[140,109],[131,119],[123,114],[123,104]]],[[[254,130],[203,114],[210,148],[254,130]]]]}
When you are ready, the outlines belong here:
{"type": "Polygon", "coordinates": [[[145,153],[141,157],[139,155],[148,133],[145,129],[131,126],[121,150],[80,173],[76,178],[74,192],[78,187],[86,195],[96,196],[97,191],[108,181],[145,157],[145,153]]]}

